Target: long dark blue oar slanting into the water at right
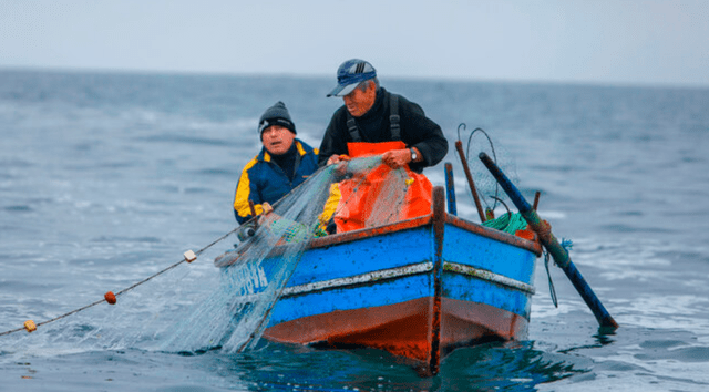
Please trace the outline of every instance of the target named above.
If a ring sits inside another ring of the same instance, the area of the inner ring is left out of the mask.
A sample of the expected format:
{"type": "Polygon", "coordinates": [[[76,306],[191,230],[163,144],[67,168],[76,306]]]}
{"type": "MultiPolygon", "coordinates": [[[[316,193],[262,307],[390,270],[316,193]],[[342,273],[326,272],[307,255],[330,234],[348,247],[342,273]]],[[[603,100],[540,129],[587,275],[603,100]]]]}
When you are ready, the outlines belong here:
{"type": "Polygon", "coordinates": [[[527,221],[530,227],[540,236],[540,240],[542,245],[546,248],[546,250],[552,255],[554,261],[557,266],[559,266],[566,277],[572,281],[576,291],[584,299],[590,311],[593,311],[596,320],[600,327],[612,327],[618,328],[618,323],[613,319],[610,313],[604,308],[603,303],[596,295],[594,290],[590,289],[590,286],[586,282],[584,277],[580,275],[576,266],[572,262],[571,257],[566,249],[564,249],[554,234],[552,234],[551,227],[547,223],[543,221],[540,216],[536,214],[536,210],[530,206],[530,204],[524,199],[520,190],[512,184],[512,182],[505,176],[504,173],[497,167],[497,165],[487,156],[485,153],[481,153],[479,155],[480,161],[487,167],[490,173],[495,177],[500,186],[505,189],[507,196],[512,199],[522,217],[527,221]]]}

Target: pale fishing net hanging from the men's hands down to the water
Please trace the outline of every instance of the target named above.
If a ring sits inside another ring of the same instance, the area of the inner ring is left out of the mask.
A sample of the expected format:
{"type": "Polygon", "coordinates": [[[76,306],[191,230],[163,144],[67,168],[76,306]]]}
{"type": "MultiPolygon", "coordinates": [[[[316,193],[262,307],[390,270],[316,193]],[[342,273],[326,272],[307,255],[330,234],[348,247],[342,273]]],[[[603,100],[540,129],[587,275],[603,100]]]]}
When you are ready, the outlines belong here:
{"type": "MultiPolygon", "coordinates": [[[[218,287],[173,330],[163,348],[191,352],[215,347],[226,352],[254,348],[304,251],[314,238],[326,234],[329,216],[325,207],[331,202],[331,185],[353,182],[354,192],[349,197],[361,196],[358,182],[380,165],[381,156],[371,156],[349,161],[346,169],[326,166],[279,200],[274,212],[260,219],[254,236],[226,256],[233,260],[222,268],[218,287]]],[[[366,227],[400,219],[398,210],[408,182],[404,169],[388,171],[378,195],[368,204],[371,213],[366,227]]],[[[335,214],[347,205],[342,196],[335,214]]]]}

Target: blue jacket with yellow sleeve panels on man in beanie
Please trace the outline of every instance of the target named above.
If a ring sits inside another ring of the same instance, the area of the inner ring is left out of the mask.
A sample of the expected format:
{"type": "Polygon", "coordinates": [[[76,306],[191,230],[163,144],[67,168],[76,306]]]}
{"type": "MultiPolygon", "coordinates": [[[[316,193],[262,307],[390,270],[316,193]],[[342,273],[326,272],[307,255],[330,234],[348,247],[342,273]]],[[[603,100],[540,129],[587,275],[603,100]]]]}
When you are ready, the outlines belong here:
{"type": "Polygon", "coordinates": [[[244,166],[234,196],[234,215],[239,225],[251,218],[249,200],[254,202],[259,214],[264,202],[274,205],[318,169],[318,151],[297,138],[294,143],[300,162],[292,180],[265,147],[244,166]]]}

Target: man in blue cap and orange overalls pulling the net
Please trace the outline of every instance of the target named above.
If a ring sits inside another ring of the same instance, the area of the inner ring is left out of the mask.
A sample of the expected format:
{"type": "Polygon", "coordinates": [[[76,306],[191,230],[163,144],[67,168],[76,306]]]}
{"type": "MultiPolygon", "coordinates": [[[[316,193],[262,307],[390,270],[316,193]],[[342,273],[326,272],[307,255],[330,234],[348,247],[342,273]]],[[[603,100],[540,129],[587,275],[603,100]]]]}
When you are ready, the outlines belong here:
{"type": "MultiPolygon", "coordinates": [[[[434,166],[448,153],[448,141],[441,127],[427,117],[417,103],[381,87],[377,70],[367,61],[343,62],[337,71],[337,86],[327,96],[340,96],[345,105],[335,112],[325,132],[318,164],[331,165],[381,154],[383,164],[391,169],[404,168],[412,179],[401,218],[430,214],[432,185],[421,173],[423,167],[434,166]]],[[[377,183],[383,175],[382,172],[372,173],[364,183],[373,188],[362,188],[360,180],[357,192],[376,197],[377,192],[371,190],[379,186],[377,183]]],[[[341,200],[356,192],[353,179],[340,183],[339,188],[341,200]]],[[[335,216],[338,233],[364,227],[371,213],[367,212],[367,206],[372,200],[357,199],[357,205],[338,207],[335,216]]]]}

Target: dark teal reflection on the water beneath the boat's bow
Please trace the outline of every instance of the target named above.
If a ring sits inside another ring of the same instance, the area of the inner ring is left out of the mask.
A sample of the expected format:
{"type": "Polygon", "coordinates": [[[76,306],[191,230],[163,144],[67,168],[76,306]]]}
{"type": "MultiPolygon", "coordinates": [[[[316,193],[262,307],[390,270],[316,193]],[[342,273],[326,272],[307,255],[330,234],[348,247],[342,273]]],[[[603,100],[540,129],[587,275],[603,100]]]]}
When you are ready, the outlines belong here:
{"type": "Polygon", "coordinates": [[[533,342],[487,343],[453,351],[439,375],[419,378],[391,354],[372,349],[323,350],[277,343],[244,355],[213,355],[224,375],[266,389],[361,391],[528,391],[540,383],[589,371],[593,362],[577,355],[548,353],[533,342]]]}

